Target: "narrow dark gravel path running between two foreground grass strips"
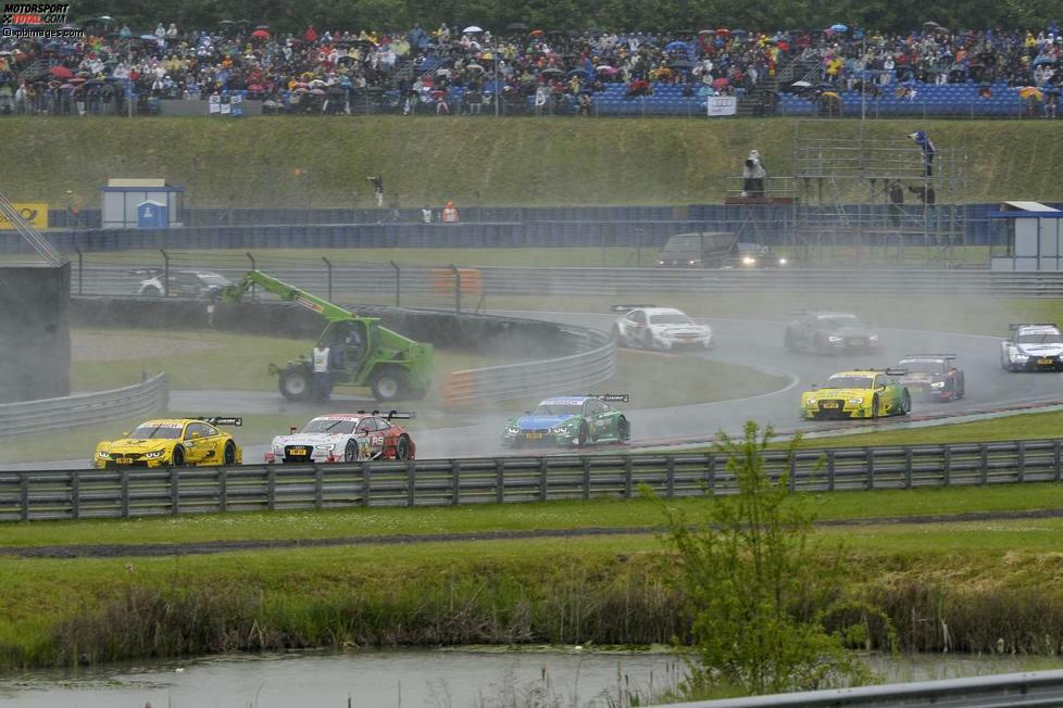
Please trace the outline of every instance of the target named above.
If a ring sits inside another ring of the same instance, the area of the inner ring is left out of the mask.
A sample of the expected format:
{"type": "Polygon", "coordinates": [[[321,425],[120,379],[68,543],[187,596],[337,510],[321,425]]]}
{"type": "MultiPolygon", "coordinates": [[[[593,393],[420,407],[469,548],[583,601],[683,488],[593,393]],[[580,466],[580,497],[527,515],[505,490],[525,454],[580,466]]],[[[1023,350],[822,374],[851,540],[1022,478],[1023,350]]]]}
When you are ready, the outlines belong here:
{"type": "MultiPolygon", "coordinates": [[[[962,523],[970,521],[1006,521],[1017,519],[1055,519],[1063,509],[1031,509],[1018,511],[973,511],[905,517],[872,517],[866,519],[830,519],[815,526],[870,527],[930,523],[962,523]]],[[[277,548],[325,548],[334,546],[397,545],[413,543],[446,543],[470,541],[521,541],[525,539],[578,539],[606,535],[646,535],[661,533],[664,527],[590,527],[586,529],[547,529],[522,531],[479,531],[473,533],[426,533],[333,539],[263,539],[254,541],[202,541],[197,543],[141,544],[72,544],[62,546],[0,546],[0,556],[18,558],[118,558],[132,556],[189,556],[239,551],[271,551],[277,548]]]]}

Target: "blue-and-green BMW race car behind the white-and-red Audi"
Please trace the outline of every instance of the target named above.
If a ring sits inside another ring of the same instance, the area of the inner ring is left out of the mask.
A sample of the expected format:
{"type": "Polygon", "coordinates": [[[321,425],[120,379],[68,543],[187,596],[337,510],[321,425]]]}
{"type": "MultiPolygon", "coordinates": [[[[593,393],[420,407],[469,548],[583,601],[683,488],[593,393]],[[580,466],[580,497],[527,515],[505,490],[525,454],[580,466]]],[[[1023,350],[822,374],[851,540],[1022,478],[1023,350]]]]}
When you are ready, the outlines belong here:
{"type": "Polygon", "coordinates": [[[507,447],[584,447],[593,443],[623,443],[631,437],[627,416],[606,401],[626,403],[627,395],[560,396],[542,401],[535,410],[505,421],[507,447]]]}

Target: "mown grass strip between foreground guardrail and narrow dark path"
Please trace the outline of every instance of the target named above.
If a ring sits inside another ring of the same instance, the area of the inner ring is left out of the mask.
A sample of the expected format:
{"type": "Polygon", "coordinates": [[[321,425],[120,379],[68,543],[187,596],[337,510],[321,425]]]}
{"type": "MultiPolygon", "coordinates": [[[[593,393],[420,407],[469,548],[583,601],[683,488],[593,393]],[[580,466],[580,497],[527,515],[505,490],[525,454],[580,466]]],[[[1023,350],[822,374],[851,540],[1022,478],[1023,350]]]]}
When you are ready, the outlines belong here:
{"type": "MultiPolygon", "coordinates": [[[[1014,484],[877,490],[823,493],[805,495],[805,498],[810,500],[817,517],[823,520],[903,518],[1059,508],[1063,505],[1063,486],[1014,484]]],[[[676,500],[672,504],[692,513],[700,508],[703,502],[696,498],[676,500]]],[[[649,500],[595,500],[412,509],[352,508],[326,511],[208,514],[132,521],[7,523],[0,524],[0,546],[197,543],[485,531],[624,529],[650,528],[660,523],[660,509],[649,500]]]]}

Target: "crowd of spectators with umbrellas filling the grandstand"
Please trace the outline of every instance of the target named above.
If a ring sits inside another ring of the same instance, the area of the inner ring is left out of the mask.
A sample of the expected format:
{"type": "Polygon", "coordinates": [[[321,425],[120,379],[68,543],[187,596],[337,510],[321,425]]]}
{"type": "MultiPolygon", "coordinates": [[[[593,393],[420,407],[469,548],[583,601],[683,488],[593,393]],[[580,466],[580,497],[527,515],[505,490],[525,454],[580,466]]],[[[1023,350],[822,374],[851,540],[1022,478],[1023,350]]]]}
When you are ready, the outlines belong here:
{"type": "Polygon", "coordinates": [[[404,33],[310,26],[275,36],[268,26],[246,23],[190,31],[159,24],[138,34],[98,21],[74,42],[3,40],[0,112],[109,113],[122,111],[134,93],[142,109],[159,99],[240,91],[288,112],[372,104],[402,113],[480,113],[501,101],[508,112],[571,106],[589,115],[595,96],[611,85],[624,85],[630,97],[652,94],[662,83],[681,86],[686,97],[741,96],[795,59],[816,73],[816,83],[839,90],[868,80],[1046,89],[1063,80],[1058,25],[950,31],[927,23],[903,35],[836,27],[658,35],[520,24],[497,34],[447,25],[404,33]]]}

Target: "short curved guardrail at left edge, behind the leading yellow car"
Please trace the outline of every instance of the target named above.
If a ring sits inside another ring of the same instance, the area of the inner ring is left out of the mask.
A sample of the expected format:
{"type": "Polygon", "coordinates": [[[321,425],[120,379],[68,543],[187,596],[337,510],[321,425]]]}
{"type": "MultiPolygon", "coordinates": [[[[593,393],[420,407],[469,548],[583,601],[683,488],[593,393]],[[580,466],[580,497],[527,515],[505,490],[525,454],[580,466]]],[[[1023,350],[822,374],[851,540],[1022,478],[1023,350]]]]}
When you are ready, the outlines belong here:
{"type": "Polygon", "coordinates": [[[166,407],[168,394],[166,375],[157,374],[142,383],[113,391],[5,403],[0,405],[0,438],[151,415],[166,407]]]}

